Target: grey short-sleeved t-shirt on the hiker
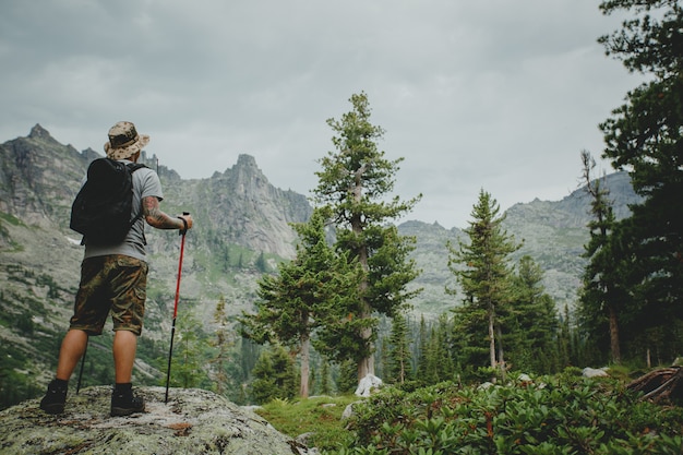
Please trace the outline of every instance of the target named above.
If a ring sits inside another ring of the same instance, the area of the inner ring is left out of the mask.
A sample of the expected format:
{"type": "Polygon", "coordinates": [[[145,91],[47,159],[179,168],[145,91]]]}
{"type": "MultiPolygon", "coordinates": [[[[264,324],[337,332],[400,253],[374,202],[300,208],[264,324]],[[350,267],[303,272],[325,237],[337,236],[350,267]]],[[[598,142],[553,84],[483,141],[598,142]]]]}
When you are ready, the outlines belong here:
{"type": "MultiPolygon", "coordinates": [[[[128,159],[121,161],[129,164],[128,159]]],[[[161,191],[161,182],[159,176],[149,168],[143,167],[133,172],[133,213],[131,219],[135,218],[142,212],[143,197],[154,196],[161,201],[164,193],[161,191]]],[[[127,256],[136,258],[146,261],[145,253],[145,218],[141,217],[135,221],[125,239],[115,246],[88,246],[85,244],[84,259],[104,256],[108,254],[124,254],[127,256]]]]}

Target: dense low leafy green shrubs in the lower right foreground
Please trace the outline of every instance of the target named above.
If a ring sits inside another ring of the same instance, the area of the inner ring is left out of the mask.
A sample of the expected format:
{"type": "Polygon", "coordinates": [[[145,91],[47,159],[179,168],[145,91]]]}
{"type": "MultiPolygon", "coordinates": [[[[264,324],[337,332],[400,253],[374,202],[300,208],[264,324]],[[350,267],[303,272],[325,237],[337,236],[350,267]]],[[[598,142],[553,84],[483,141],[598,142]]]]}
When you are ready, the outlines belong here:
{"type": "Polygon", "coordinates": [[[328,454],[680,454],[683,412],[613,380],[572,374],[505,386],[385,388],[355,407],[328,454]],[[352,450],[352,452],[350,452],[352,450]]]}

